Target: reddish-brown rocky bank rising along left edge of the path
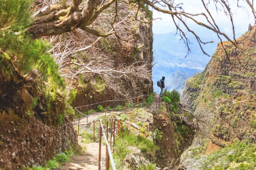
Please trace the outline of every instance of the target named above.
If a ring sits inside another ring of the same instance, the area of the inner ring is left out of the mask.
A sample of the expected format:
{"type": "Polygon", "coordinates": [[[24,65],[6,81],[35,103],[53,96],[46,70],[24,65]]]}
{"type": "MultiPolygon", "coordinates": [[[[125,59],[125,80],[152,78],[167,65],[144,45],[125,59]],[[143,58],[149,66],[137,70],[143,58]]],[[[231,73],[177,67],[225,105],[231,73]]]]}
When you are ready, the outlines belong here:
{"type": "Polygon", "coordinates": [[[76,146],[77,134],[64,97],[56,94],[58,99],[51,98],[47,106],[41,77],[28,77],[36,70],[22,76],[14,62],[2,56],[0,65],[0,169],[44,164],[76,146]]]}

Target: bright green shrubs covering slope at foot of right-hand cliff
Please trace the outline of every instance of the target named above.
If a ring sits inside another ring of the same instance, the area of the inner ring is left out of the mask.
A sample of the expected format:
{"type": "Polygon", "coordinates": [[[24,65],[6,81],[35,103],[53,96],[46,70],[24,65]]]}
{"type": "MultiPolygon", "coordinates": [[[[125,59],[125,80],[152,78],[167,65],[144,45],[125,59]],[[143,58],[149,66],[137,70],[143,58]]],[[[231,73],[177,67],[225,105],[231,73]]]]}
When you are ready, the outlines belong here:
{"type": "Polygon", "coordinates": [[[250,141],[234,142],[209,155],[202,155],[205,149],[201,148],[206,146],[207,144],[189,149],[186,153],[190,157],[190,161],[186,161],[189,169],[196,170],[199,167],[200,170],[254,170],[256,167],[256,145],[250,141]]]}

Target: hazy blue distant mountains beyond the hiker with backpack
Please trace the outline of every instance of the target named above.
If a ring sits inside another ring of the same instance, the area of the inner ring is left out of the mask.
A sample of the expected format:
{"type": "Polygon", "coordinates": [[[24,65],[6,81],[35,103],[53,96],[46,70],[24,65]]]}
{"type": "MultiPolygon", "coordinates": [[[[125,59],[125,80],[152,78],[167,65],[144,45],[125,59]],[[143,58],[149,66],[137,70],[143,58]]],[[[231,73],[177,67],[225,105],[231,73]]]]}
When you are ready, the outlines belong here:
{"type": "MultiPolygon", "coordinates": [[[[154,91],[157,93],[160,93],[160,88],[157,87],[156,83],[165,76],[168,90],[176,89],[182,94],[186,79],[203,71],[211,59],[203,54],[195,37],[189,34],[187,37],[192,42],[189,44],[191,53],[185,58],[187,47],[183,40],[180,40],[180,36],[175,34],[173,32],[154,34],[153,49],[157,64],[153,67],[152,79],[154,91]]],[[[205,42],[214,41],[214,43],[203,46],[204,50],[211,56],[215,51],[218,39],[207,36],[204,31],[201,31],[201,39],[205,42]]]]}

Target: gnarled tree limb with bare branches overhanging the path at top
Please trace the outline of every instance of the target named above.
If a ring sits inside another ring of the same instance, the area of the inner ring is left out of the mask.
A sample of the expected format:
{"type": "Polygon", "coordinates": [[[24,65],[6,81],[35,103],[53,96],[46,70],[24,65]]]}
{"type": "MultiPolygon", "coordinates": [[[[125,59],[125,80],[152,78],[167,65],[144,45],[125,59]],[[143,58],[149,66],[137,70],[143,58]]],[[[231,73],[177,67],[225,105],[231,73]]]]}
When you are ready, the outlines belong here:
{"type": "MultiPolygon", "coordinates": [[[[239,6],[241,0],[237,0],[237,6],[239,6]]],[[[29,34],[32,34],[33,38],[39,38],[42,36],[49,36],[49,35],[59,35],[65,32],[73,31],[76,28],[81,28],[90,34],[97,35],[99,37],[107,37],[111,34],[115,33],[114,28],[113,31],[99,31],[90,27],[90,25],[95,22],[99,14],[104,11],[105,9],[109,8],[111,4],[115,3],[116,6],[120,2],[120,0],[87,0],[83,2],[83,0],[72,0],[72,2],[63,0],[61,3],[56,3],[51,6],[47,6],[41,11],[38,11],[35,14],[35,17],[31,21],[31,26],[26,28],[26,31],[29,34]]],[[[256,18],[256,11],[253,8],[253,0],[250,2],[249,0],[244,0],[245,3],[248,4],[248,7],[252,10],[255,18],[256,18]]],[[[186,37],[186,32],[191,32],[198,44],[200,45],[201,50],[204,54],[208,55],[202,45],[211,43],[204,42],[198,36],[195,30],[192,30],[189,25],[187,24],[187,20],[192,20],[192,22],[207,28],[215,34],[217,34],[219,40],[221,41],[221,45],[224,48],[223,40],[224,37],[229,42],[231,42],[237,49],[241,49],[237,45],[235,40],[235,28],[233,24],[233,13],[230,10],[229,0],[201,0],[205,10],[207,13],[189,13],[183,10],[183,3],[176,3],[176,0],[129,0],[127,3],[137,3],[138,4],[138,11],[139,8],[142,8],[143,5],[148,5],[154,8],[154,10],[163,12],[165,14],[170,14],[173,20],[173,23],[176,26],[177,33],[180,34],[181,39],[184,41],[187,47],[188,53],[190,52],[189,48],[189,39],[186,37]],[[224,12],[227,17],[230,18],[230,22],[233,28],[233,37],[230,38],[225,34],[219,26],[216,24],[214,17],[212,16],[211,12],[209,11],[208,5],[213,3],[216,7],[216,11],[224,12]],[[197,19],[198,16],[201,16],[205,19],[206,22],[201,22],[197,19]],[[185,27],[183,29],[182,26],[185,27]]],[[[116,17],[117,11],[116,11],[116,17]]],[[[113,23],[116,21],[116,17],[113,19],[113,23]]],[[[140,20],[136,16],[136,20],[140,20]]],[[[142,20],[141,20],[142,21],[142,20]]],[[[142,21],[147,22],[147,21],[142,21]]],[[[148,21],[151,22],[151,21],[148,21]]],[[[112,23],[112,25],[113,25],[112,23]]],[[[118,35],[117,35],[118,36],[118,35]]],[[[227,58],[228,54],[226,53],[227,58]]]]}

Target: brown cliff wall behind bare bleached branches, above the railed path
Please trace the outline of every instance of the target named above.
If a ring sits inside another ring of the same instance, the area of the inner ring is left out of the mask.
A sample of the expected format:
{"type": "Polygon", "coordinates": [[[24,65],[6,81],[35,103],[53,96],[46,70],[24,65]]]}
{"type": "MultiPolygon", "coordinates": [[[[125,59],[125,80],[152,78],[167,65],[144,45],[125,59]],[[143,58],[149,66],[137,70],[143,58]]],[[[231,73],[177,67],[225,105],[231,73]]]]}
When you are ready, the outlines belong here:
{"type": "MultiPolygon", "coordinates": [[[[127,13],[122,17],[126,18],[125,23],[129,23],[129,26],[122,28],[121,31],[123,31],[122,34],[126,34],[128,41],[118,40],[116,37],[110,36],[103,38],[95,47],[100,49],[107,57],[110,57],[109,60],[114,63],[115,68],[122,65],[128,67],[134,62],[141,61],[140,65],[146,63],[148,70],[152,72],[152,23],[141,23],[140,21],[134,20],[136,8],[125,3],[120,4],[122,4],[122,8],[127,10],[127,13]]],[[[145,10],[140,11],[140,19],[148,21],[149,19],[145,13],[145,10]]],[[[106,21],[102,20],[101,22],[104,23],[106,21]]],[[[149,81],[137,83],[137,87],[140,87],[138,91],[134,90],[130,82],[126,82],[124,79],[121,80],[121,82],[123,83],[122,89],[126,91],[126,94],[129,94],[129,96],[150,94],[153,91],[153,83],[149,81]]],[[[114,92],[111,87],[108,87],[104,81],[92,83],[90,79],[84,79],[83,83],[85,85],[81,85],[81,82],[79,82],[76,86],[76,88],[78,88],[78,94],[73,103],[74,106],[88,105],[115,98],[124,98],[124,96],[114,92]]],[[[115,107],[117,104],[120,103],[110,103],[111,107],[115,107]]]]}

